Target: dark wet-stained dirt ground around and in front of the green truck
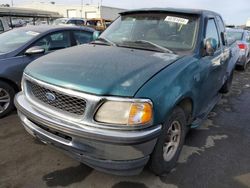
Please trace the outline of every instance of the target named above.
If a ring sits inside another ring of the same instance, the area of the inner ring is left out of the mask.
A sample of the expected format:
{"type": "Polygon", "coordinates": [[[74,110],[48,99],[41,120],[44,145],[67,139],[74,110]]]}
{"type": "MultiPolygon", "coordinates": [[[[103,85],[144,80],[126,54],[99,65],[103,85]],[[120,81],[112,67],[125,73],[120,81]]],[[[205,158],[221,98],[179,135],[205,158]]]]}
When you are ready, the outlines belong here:
{"type": "Polygon", "coordinates": [[[34,140],[14,112],[0,120],[0,187],[250,187],[250,68],[235,72],[231,93],[190,131],[178,166],[165,177],[147,169],[134,177],[93,170],[34,140]]]}

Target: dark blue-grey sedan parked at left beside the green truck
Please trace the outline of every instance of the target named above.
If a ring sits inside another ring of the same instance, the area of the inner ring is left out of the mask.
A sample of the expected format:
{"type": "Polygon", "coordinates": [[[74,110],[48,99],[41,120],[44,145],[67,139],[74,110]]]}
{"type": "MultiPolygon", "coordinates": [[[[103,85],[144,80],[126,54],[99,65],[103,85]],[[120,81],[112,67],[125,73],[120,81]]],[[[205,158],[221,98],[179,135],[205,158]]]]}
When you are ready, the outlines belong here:
{"type": "Polygon", "coordinates": [[[88,27],[27,26],[2,33],[0,118],[13,109],[15,93],[21,88],[23,70],[30,62],[55,50],[88,43],[93,39],[93,32],[88,27]]]}

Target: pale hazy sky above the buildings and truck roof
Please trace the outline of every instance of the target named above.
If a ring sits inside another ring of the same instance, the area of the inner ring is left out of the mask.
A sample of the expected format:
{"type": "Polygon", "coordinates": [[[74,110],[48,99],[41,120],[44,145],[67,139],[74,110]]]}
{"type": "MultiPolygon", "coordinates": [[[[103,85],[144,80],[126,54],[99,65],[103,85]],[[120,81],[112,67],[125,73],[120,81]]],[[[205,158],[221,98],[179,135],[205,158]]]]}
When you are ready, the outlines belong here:
{"type": "MultiPolygon", "coordinates": [[[[14,5],[30,2],[51,2],[56,4],[100,3],[124,9],[177,7],[207,9],[220,13],[226,24],[243,25],[250,18],[249,0],[12,0],[14,5]]],[[[11,4],[11,0],[0,0],[0,4],[11,4]]]]}

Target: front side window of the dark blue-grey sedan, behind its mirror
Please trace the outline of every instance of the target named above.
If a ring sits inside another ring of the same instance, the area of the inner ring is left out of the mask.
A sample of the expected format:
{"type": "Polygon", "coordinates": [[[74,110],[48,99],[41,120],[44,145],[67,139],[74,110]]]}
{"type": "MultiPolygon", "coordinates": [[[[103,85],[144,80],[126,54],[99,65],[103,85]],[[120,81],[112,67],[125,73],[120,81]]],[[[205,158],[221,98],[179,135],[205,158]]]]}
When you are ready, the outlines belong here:
{"type": "Polygon", "coordinates": [[[33,44],[33,46],[41,46],[46,52],[70,47],[71,43],[69,32],[63,31],[49,34],[38,40],[33,44]]]}

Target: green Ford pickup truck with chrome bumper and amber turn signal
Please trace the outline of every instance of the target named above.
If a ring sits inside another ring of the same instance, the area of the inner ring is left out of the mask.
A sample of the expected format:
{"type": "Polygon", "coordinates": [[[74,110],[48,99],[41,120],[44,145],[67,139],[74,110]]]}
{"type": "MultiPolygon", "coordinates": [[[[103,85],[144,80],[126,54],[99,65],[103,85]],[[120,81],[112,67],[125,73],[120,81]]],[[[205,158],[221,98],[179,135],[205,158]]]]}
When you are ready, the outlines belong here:
{"type": "Polygon", "coordinates": [[[15,104],[27,132],[90,167],[162,175],[229,91],[230,61],[217,13],[126,11],[91,44],[31,63],[15,104]]]}

